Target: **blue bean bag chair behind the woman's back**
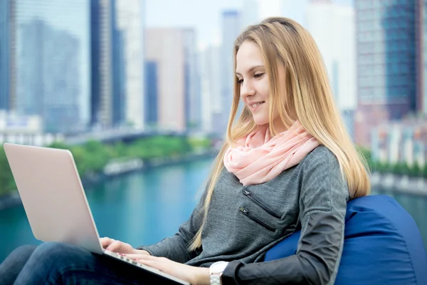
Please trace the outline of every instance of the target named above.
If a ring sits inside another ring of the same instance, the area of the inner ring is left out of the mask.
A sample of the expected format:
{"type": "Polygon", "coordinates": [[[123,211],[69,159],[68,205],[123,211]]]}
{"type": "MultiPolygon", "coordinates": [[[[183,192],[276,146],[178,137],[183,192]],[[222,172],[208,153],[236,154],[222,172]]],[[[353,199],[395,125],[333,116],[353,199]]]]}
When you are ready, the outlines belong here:
{"type": "MultiPolygon", "coordinates": [[[[395,199],[371,195],[347,204],[344,249],[335,284],[427,285],[427,254],[416,223],[395,199]]],[[[300,232],[275,245],[264,261],[297,252],[300,232]]]]}

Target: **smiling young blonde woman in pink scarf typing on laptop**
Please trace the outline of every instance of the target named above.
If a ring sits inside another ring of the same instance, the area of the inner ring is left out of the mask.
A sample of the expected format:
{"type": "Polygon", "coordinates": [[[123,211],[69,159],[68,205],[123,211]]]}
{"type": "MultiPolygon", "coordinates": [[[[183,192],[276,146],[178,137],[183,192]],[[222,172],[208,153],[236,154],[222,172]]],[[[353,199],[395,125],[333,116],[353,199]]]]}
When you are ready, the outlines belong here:
{"type": "MultiPolygon", "coordinates": [[[[238,36],[234,60],[226,142],[190,219],[149,247],[101,242],[191,284],[333,284],[347,201],[367,195],[370,185],[322,57],[302,26],[269,18],[238,36]],[[233,125],[240,100],[245,107],[233,125]],[[296,229],[302,234],[294,256],[260,262],[296,229]]],[[[46,243],[12,252],[0,283],[153,283],[130,267],[46,243]]]]}

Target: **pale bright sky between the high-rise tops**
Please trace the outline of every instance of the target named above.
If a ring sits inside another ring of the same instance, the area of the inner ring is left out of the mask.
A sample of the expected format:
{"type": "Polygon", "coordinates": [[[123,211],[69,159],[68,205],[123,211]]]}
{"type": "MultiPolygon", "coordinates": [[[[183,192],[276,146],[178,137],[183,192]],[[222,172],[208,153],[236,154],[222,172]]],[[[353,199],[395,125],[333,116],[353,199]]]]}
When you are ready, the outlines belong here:
{"type": "MultiPolygon", "coordinates": [[[[241,9],[244,0],[144,0],[145,25],[152,27],[196,28],[199,48],[221,41],[221,12],[241,9]]],[[[309,0],[282,0],[303,5],[309,0]]],[[[334,0],[337,4],[352,5],[354,0],[334,0]]],[[[260,17],[270,16],[280,0],[258,0],[260,17]]],[[[292,14],[289,16],[292,18],[292,14]]]]}

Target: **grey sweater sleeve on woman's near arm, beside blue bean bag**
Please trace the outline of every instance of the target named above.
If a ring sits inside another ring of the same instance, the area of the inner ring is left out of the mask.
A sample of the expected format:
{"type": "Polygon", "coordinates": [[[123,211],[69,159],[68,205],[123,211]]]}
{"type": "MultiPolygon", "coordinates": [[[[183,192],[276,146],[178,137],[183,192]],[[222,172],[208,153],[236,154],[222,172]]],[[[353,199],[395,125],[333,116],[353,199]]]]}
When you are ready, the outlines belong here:
{"type": "Polygon", "coordinates": [[[223,273],[223,285],[334,284],[349,192],[332,152],[324,147],[317,154],[302,162],[302,232],[296,254],[254,264],[232,261],[223,273]]]}

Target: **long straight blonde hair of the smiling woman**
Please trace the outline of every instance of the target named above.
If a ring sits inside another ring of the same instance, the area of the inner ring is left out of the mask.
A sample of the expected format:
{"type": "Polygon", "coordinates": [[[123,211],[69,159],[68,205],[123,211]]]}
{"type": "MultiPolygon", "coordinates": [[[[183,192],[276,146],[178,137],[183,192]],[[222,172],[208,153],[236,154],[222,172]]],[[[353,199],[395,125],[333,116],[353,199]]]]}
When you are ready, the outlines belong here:
{"type": "MultiPolygon", "coordinates": [[[[310,33],[297,22],[281,17],[268,18],[260,24],[249,26],[234,43],[235,68],[236,55],[244,41],[257,44],[263,54],[270,84],[270,133],[277,134],[272,123],[275,112],[273,106],[280,106],[276,110],[278,109],[278,115],[286,128],[290,128],[295,120],[299,120],[308,133],[334,153],[342,177],[347,180],[349,196],[356,198],[369,195],[367,163],[357,152],[334,105],[322,56],[310,33]],[[285,78],[280,78],[279,64],[285,69],[285,78]],[[283,86],[284,89],[280,89],[283,86]],[[285,93],[280,90],[285,90],[285,93]]],[[[189,245],[190,250],[201,246],[201,232],[206,222],[214,187],[223,170],[223,156],[226,150],[229,146],[235,145],[236,140],[256,128],[251,111],[247,107],[243,108],[236,125],[233,125],[240,97],[240,86],[235,77],[226,142],[214,162],[204,200],[204,219],[199,232],[189,245]]]]}

